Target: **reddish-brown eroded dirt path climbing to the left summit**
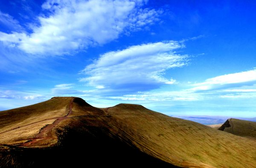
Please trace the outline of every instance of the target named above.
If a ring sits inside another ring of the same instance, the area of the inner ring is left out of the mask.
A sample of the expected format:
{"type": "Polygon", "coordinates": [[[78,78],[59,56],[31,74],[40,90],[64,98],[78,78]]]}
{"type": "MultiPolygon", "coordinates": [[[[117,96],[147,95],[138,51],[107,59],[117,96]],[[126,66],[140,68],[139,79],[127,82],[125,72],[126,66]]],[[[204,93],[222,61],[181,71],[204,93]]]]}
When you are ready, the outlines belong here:
{"type": "Polygon", "coordinates": [[[32,146],[34,143],[39,143],[39,142],[47,140],[47,139],[53,139],[54,136],[52,135],[51,130],[52,130],[52,128],[57,126],[58,123],[60,123],[62,120],[67,119],[68,116],[70,114],[72,114],[73,99],[74,98],[72,98],[72,100],[70,101],[69,110],[68,110],[69,112],[67,113],[67,115],[65,115],[64,117],[56,118],[56,120],[52,124],[49,124],[49,125],[45,126],[44,128],[42,128],[41,131],[34,138],[21,144],[20,146],[32,146]]]}

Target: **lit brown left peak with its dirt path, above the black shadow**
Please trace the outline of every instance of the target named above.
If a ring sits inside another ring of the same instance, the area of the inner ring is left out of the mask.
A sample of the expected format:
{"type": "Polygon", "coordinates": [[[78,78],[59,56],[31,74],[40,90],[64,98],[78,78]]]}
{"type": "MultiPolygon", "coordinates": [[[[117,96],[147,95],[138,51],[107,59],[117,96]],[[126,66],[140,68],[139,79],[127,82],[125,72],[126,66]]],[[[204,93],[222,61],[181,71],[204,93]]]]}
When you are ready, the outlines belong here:
{"type": "Polygon", "coordinates": [[[54,97],[49,101],[0,112],[0,144],[20,146],[54,146],[56,128],[70,118],[104,115],[105,112],[81,98],[54,97]]]}

